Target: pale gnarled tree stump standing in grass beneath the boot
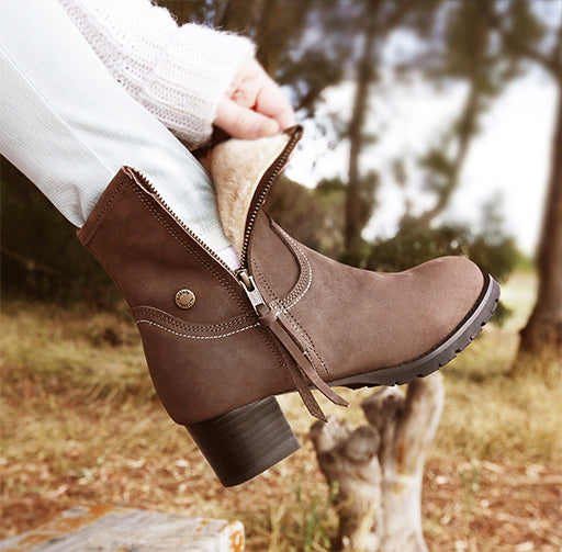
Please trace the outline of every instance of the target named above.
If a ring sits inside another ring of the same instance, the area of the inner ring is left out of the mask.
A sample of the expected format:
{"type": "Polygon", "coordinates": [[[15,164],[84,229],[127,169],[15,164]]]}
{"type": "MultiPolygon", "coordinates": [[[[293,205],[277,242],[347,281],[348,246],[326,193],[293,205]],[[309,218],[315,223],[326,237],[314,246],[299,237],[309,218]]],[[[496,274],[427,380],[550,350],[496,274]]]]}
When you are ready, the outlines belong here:
{"type": "Polygon", "coordinates": [[[351,430],[334,417],[311,438],[328,485],[336,489],[339,534],[333,550],[427,552],[422,533],[422,482],[445,399],[440,373],[406,394],[385,387],[363,401],[369,425],[351,430]]]}

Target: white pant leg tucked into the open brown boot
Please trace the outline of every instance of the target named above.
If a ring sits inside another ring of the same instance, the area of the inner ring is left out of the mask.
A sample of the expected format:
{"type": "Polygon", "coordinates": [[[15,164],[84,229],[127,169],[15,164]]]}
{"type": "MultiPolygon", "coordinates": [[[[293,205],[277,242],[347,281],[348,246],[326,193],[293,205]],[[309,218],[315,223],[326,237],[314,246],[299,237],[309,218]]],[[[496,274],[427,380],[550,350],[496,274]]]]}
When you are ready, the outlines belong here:
{"type": "Polygon", "coordinates": [[[0,153],[72,224],[128,165],[209,246],[228,246],[205,170],[122,90],[57,0],[0,1],[0,153]]]}

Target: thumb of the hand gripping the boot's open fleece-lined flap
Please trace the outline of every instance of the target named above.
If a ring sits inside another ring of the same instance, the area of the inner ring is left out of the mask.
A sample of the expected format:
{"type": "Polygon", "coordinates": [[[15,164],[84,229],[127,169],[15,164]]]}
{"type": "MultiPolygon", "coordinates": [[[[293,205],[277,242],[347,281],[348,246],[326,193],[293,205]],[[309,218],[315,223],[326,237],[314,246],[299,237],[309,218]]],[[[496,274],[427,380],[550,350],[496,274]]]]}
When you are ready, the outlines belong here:
{"type": "Polygon", "coordinates": [[[234,138],[243,139],[274,136],[279,132],[274,120],[243,108],[228,98],[220,103],[214,124],[234,138]]]}

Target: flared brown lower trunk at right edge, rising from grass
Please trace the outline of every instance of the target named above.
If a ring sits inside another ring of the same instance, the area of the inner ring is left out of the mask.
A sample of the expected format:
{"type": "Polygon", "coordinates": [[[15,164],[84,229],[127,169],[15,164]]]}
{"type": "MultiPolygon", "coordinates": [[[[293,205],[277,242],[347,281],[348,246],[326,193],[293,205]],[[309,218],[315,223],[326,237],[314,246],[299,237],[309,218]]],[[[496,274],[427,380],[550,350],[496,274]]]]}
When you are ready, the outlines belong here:
{"type": "Polygon", "coordinates": [[[558,82],[558,113],[542,232],[537,251],[537,303],[520,331],[514,369],[536,357],[546,369],[560,372],[562,361],[562,79],[558,82]]]}

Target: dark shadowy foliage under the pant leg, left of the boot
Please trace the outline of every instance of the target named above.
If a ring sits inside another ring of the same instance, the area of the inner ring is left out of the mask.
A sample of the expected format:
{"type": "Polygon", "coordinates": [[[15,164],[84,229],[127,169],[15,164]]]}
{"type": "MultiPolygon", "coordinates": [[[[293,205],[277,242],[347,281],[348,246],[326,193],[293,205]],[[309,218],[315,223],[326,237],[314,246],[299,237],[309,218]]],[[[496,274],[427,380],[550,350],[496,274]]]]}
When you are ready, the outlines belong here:
{"type": "Polygon", "coordinates": [[[116,289],[76,228],[4,158],[1,206],[2,295],[113,304],[116,289]]]}

